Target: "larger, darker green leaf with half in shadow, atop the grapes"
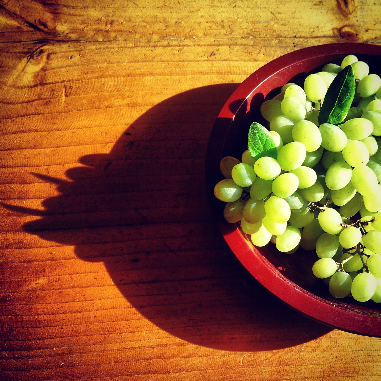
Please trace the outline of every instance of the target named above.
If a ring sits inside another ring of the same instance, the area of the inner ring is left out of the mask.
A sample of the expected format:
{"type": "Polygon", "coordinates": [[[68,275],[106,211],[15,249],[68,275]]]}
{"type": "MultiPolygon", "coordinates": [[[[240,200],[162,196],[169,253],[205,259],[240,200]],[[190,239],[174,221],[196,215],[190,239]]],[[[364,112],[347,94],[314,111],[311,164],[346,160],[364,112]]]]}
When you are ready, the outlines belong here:
{"type": "Polygon", "coordinates": [[[351,65],[344,67],[334,78],[325,94],[319,112],[319,124],[339,124],[351,107],[355,95],[355,78],[351,65]]]}

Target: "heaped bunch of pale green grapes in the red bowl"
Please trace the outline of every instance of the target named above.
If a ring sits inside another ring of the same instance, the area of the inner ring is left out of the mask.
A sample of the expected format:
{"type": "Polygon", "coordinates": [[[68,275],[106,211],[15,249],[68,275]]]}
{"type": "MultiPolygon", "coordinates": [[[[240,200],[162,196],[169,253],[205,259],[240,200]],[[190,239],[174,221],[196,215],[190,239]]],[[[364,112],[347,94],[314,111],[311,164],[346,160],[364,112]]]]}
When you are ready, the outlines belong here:
{"type": "Polygon", "coordinates": [[[381,303],[381,78],[354,55],[261,105],[277,158],[224,157],[214,189],[224,218],[255,246],[315,250],[312,272],[335,298],[381,303]],[[319,125],[330,83],[351,65],[356,91],[343,122],[319,125]]]}

